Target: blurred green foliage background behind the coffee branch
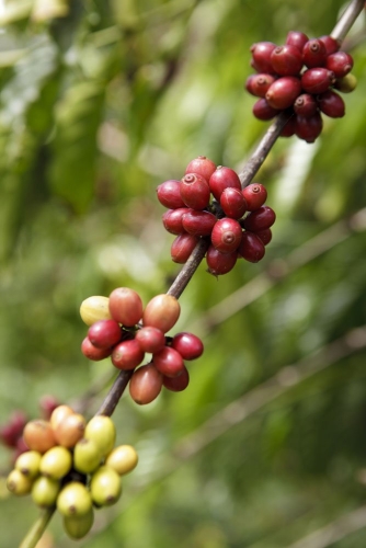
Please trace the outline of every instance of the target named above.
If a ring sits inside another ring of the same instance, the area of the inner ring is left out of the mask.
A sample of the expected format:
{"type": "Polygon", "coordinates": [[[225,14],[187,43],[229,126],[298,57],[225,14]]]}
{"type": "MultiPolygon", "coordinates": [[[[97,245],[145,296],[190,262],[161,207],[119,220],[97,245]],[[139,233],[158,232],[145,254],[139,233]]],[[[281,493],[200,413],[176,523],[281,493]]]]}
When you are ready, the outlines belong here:
{"type": "MultiPolygon", "coordinates": [[[[81,301],[170,286],[156,187],[198,155],[240,170],[267,124],[243,90],[250,46],[333,28],[339,0],[0,2],[0,418],[103,384],[80,352],[81,301]]],[[[279,139],[255,181],[277,214],[259,264],[202,264],[178,330],[205,354],[186,391],[114,414],[137,469],[79,546],[366,545],[366,48],[358,87],[314,145],[279,139]]],[[[346,43],[344,44],[344,47],[346,43]]],[[[99,408],[107,386],[89,402],[99,408]]],[[[0,450],[3,478],[11,453],[0,450]]],[[[15,547],[38,515],[0,484],[15,547]]],[[[75,546],[53,520],[39,548],[75,546]]]]}

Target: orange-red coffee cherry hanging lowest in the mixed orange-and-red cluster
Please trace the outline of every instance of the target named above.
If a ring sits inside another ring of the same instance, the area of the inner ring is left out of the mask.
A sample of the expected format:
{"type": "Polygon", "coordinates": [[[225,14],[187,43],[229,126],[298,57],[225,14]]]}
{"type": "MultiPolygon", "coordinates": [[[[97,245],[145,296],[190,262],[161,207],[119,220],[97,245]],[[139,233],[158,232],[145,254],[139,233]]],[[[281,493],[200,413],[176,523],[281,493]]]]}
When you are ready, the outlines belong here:
{"type": "Polygon", "coordinates": [[[152,364],[136,369],[129,381],[129,393],[139,406],[153,401],[160,393],[162,375],[152,364]]]}

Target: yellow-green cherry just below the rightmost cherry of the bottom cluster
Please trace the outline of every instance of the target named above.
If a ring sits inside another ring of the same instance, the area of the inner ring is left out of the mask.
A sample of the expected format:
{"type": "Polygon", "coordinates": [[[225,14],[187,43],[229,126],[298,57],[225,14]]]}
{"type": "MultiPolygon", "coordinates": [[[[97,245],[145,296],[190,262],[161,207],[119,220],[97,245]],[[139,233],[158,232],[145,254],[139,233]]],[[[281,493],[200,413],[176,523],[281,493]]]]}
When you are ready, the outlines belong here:
{"type": "Polygon", "coordinates": [[[118,473],[108,466],[101,466],[90,481],[90,492],[98,506],[110,506],[117,502],[122,493],[118,473]]]}

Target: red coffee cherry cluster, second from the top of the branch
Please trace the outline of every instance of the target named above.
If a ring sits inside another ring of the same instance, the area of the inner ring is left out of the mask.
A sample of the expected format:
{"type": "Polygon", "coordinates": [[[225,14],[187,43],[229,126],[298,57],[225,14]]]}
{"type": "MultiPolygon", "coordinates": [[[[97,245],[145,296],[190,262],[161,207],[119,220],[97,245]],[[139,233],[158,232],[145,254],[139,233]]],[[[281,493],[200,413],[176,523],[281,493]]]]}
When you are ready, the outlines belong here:
{"type": "Polygon", "coordinates": [[[276,216],[264,206],[267,193],[262,184],[242,190],[235,170],[198,156],[180,181],[161,183],[157,194],[169,208],[163,226],[176,236],[171,246],[174,262],[185,263],[201,238],[210,239],[206,262],[216,276],[231,271],[238,258],[253,263],[263,259],[276,216]]]}

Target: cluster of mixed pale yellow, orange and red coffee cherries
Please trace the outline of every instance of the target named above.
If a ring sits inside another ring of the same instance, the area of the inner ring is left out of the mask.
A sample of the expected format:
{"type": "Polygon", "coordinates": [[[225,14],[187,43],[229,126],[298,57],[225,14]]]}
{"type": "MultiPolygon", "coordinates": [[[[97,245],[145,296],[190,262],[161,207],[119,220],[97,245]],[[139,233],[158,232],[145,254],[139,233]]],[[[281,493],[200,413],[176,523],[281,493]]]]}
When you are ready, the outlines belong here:
{"type": "Polygon", "coordinates": [[[165,335],[180,313],[178,299],[167,294],[155,296],[145,308],[138,293],[128,287],[117,287],[110,297],[89,297],[80,307],[82,320],[90,326],[81,351],[93,361],[111,356],[117,369],[133,372],[133,400],[150,403],[162,387],[184,390],[190,383],[184,362],[199,357],[204,350],[193,333],[165,335]],[[146,354],[152,355],[151,361],[140,365],[146,354]]]}

